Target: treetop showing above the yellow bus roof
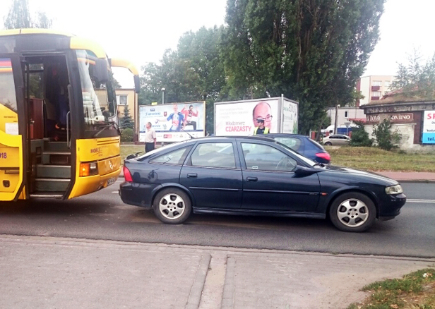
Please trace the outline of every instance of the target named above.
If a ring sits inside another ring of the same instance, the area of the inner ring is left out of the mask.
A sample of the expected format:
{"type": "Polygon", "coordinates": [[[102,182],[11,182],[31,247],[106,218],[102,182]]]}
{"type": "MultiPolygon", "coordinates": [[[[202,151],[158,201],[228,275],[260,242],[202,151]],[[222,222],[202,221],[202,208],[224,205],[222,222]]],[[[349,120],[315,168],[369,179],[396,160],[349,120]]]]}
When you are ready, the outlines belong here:
{"type": "Polygon", "coordinates": [[[32,18],[28,0],[13,0],[4,20],[4,28],[52,28],[53,21],[44,12],[37,12],[35,15],[32,18]]]}

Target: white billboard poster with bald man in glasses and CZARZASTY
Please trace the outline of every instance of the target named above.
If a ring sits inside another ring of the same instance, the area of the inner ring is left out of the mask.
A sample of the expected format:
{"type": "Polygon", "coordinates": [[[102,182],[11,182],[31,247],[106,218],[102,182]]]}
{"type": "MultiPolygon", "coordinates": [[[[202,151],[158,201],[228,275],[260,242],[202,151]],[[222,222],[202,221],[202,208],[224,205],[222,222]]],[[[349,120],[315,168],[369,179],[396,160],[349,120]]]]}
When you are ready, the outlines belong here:
{"type": "Polygon", "coordinates": [[[279,133],[279,99],[215,104],[215,135],[254,135],[256,119],[264,119],[270,133],[279,133]]]}

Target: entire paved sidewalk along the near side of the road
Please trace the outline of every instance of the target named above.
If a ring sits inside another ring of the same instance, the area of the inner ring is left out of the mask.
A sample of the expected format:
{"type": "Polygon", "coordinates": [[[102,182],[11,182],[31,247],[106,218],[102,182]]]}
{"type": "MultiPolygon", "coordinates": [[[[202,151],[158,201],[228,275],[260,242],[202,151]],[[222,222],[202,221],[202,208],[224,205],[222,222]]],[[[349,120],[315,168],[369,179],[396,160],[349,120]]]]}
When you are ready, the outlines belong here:
{"type": "Polygon", "coordinates": [[[0,236],[0,308],[346,308],[435,259],[0,236]]]}

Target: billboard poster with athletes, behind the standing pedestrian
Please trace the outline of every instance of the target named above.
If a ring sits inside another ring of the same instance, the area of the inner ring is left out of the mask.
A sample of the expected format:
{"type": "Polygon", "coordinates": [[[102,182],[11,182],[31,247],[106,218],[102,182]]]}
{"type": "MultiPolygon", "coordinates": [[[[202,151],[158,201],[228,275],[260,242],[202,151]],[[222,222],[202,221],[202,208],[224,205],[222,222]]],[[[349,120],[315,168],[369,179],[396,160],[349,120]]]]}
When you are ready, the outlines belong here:
{"type": "Polygon", "coordinates": [[[150,122],[158,143],[181,142],[205,136],[205,102],[141,105],[139,141],[145,142],[146,123],[150,122]]]}

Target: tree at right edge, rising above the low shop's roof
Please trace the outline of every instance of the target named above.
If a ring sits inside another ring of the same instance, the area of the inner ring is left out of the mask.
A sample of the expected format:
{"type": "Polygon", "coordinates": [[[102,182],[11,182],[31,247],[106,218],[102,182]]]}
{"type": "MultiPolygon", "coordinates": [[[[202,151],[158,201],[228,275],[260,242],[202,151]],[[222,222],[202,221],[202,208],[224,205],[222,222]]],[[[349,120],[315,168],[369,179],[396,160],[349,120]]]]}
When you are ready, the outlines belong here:
{"type": "Polygon", "coordinates": [[[417,49],[410,54],[407,63],[399,63],[391,90],[398,97],[414,99],[433,99],[435,95],[435,54],[426,63],[417,49]]]}

